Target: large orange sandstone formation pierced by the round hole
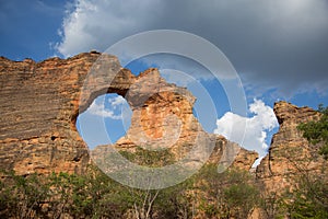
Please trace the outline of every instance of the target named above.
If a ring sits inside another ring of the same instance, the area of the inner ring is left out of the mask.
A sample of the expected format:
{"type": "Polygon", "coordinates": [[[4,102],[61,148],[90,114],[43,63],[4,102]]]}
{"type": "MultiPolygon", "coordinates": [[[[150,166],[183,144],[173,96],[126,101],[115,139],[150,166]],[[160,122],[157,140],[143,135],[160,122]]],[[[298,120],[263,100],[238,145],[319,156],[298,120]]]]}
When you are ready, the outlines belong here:
{"type": "MultiPolygon", "coordinates": [[[[104,93],[126,96],[133,111],[128,136],[116,143],[120,149],[149,138],[181,157],[199,131],[208,136],[192,115],[195,97],[190,92],[166,83],[156,69],[134,77],[114,56],[89,53],[42,62],[1,57],[0,84],[0,169],[22,175],[83,172],[90,158],[75,120],[104,93]]],[[[229,143],[221,137],[211,138],[216,143],[212,157],[216,162],[229,143]]],[[[207,148],[204,139],[199,142],[207,148]]],[[[241,154],[248,153],[243,150],[241,154]]],[[[247,168],[255,158],[251,152],[244,159],[247,168]]]]}

